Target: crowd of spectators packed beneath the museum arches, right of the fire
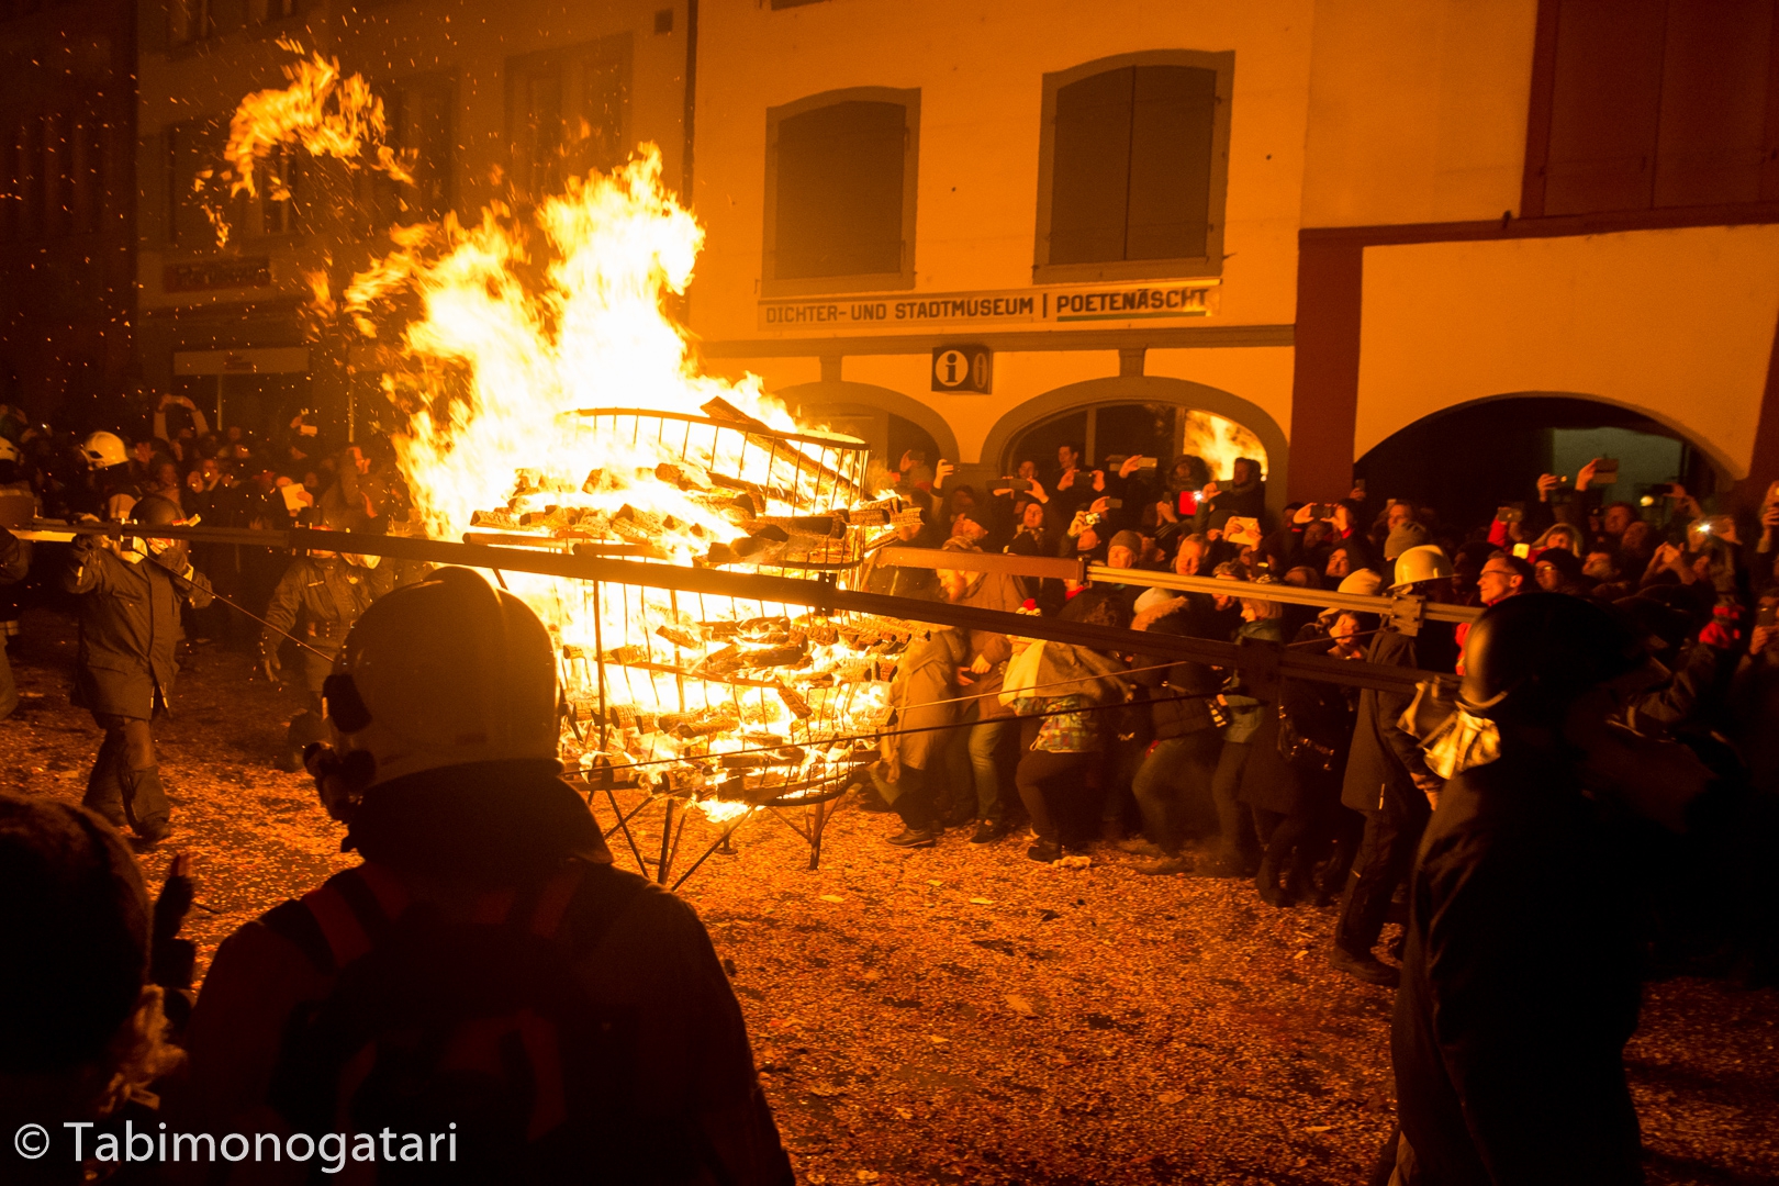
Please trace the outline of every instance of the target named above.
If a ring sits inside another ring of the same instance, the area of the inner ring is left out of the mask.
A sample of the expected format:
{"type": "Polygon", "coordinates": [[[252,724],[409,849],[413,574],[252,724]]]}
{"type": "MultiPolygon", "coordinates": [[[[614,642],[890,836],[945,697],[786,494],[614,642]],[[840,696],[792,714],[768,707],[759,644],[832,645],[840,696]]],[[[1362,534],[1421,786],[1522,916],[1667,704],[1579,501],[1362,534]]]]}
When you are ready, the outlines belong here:
{"type": "MultiPolygon", "coordinates": [[[[1215,642],[1274,644],[1343,660],[1462,674],[1468,624],[1407,633],[1364,612],[1265,596],[1304,590],[1493,606],[1548,592],[1608,606],[1653,656],[1649,688],[1619,724],[1679,740],[1715,768],[1775,782],[1779,695],[1779,484],[1752,516],[1713,514],[1679,485],[1642,505],[1612,500],[1606,461],[1573,485],[1542,475],[1505,491],[1489,523],[1455,525],[1363,485],[1274,517],[1261,464],[1210,473],[1199,457],[1099,464],[1064,445],[1053,464],[961,484],[945,461],[902,457],[895,489],[922,507],[911,546],[1085,558],[1126,571],[1231,583],[1228,596],[1096,576],[881,567],[882,592],[1057,615],[1215,642]],[[1523,498],[1521,498],[1523,494],[1523,498]],[[1244,596],[1245,590],[1251,590],[1244,596]]],[[[1615,475],[1614,478],[1615,480],[1615,475]]],[[[980,565],[978,565],[980,567],[980,565]]],[[[904,663],[868,802],[895,809],[890,843],[927,846],[948,827],[993,843],[1030,820],[1028,855],[1057,861],[1110,845],[1155,875],[1251,877],[1276,907],[1340,903],[1332,962],[1395,983],[1375,953],[1445,779],[1402,727],[1407,693],[1308,679],[1258,681],[1240,667],[936,631],[904,663]],[[943,729],[943,725],[955,725],[943,729]],[[936,729],[938,727],[938,729],[936,729]]]]}

